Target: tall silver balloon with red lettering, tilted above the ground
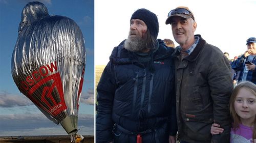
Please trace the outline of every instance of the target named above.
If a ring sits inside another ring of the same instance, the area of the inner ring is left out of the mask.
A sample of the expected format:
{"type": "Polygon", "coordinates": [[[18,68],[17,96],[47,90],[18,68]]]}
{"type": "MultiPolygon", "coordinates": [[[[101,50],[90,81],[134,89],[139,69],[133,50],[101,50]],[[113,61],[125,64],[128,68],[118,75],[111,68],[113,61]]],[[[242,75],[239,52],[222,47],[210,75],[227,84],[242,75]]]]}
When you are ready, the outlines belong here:
{"type": "Polygon", "coordinates": [[[50,16],[42,3],[28,3],[12,54],[12,77],[19,91],[70,135],[78,131],[85,66],[79,26],[68,17],[50,16]]]}

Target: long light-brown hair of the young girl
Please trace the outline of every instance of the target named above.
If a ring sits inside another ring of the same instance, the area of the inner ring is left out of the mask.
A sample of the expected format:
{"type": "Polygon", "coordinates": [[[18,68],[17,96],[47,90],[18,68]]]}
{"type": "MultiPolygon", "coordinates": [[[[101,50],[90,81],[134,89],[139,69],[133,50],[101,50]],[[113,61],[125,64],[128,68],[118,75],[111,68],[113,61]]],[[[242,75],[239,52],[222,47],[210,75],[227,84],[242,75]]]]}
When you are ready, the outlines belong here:
{"type": "MultiPolygon", "coordinates": [[[[253,95],[256,96],[256,85],[250,81],[243,81],[243,82],[240,82],[236,88],[234,88],[232,94],[231,94],[231,97],[230,97],[230,101],[229,101],[229,111],[230,111],[230,115],[232,116],[232,119],[233,119],[233,129],[234,131],[238,130],[239,128],[239,124],[241,124],[241,119],[240,117],[238,116],[236,110],[234,109],[234,102],[236,101],[236,97],[238,95],[238,92],[241,90],[241,89],[246,89],[248,90],[249,92],[251,92],[253,95]]],[[[255,115],[256,117],[256,115],[255,115]]],[[[253,133],[252,133],[252,138],[256,138],[256,120],[254,120],[254,123],[253,123],[253,133]]]]}

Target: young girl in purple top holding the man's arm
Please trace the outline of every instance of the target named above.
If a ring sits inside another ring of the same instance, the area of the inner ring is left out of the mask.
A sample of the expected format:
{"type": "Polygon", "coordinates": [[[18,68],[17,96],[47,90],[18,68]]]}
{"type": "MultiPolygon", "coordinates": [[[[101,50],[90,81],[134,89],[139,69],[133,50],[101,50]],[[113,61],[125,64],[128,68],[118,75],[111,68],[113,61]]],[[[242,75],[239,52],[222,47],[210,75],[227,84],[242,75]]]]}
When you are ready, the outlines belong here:
{"type": "MultiPolygon", "coordinates": [[[[229,101],[233,119],[230,142],[256,143],[256,85],[243,81],[234,88],[229,101]]],[[[212,135],[223,132],[219,124],[212,124],[212,135]]]]}

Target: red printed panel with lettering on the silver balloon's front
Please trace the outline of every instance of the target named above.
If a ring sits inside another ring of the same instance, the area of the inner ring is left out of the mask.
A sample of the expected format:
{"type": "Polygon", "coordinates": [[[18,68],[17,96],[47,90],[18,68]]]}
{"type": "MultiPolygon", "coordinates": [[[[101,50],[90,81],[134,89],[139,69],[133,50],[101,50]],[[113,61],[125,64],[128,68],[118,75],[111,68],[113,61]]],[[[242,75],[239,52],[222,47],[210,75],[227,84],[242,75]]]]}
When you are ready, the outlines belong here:
{"type": "MultiPolygon", "coordinates": [[[[57,62],[39,67],[20,85],[34,104],[55,117],[67,109],[57,62]]],[[[81,82],[81,81],[80,81],[81,82]]]]}

